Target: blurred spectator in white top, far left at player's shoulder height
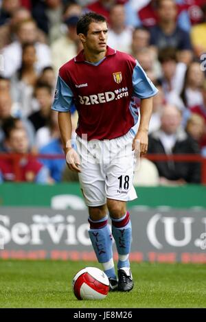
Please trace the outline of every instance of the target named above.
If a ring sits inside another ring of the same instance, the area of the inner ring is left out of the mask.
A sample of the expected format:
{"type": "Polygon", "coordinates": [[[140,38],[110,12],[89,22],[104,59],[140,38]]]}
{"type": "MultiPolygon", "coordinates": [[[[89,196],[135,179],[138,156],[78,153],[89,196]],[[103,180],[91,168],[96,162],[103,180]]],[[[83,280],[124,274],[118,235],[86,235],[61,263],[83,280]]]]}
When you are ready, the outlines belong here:
{"type": "Polygon", "coordinates": [[[32,96],[38,78],[36,60],[35,46],[32,43],[23,44],[21,67],[12,77],[12,94],[21,105],[21,115],[24,117],[30,115],[34,109],[32,96]]]}

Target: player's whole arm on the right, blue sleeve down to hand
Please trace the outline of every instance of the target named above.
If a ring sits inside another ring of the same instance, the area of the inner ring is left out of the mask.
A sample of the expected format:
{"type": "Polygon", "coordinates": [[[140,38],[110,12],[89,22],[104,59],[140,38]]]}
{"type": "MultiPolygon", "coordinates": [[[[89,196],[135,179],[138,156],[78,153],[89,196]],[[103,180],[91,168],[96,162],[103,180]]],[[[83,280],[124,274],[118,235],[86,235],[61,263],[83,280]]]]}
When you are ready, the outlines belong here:
{"type": "Polygon", "coordinates": [[[157,92],[157,88],[136,60],[136,66],[133,70],[133,95],[141,99],[141,104],[139,130],[133,140],[133,150],[138,150],[140,155],[146,154],[148,150],[148,130],[152,115],[152,97],[157,92]]]}

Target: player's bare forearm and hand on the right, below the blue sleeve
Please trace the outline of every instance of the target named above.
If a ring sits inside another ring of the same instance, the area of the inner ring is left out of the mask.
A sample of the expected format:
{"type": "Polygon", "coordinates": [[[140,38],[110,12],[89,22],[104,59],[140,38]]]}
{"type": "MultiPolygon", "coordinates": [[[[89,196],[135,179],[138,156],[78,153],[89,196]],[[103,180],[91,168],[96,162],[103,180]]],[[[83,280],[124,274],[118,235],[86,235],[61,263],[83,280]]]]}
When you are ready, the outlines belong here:
{"type": "Polygon", "coordinates": [[[146,154],[148,151],[148,130],[150,117],[152,115],[152,97],[141,100],[140,105],[140,124],[139,130],[133,140],[133,150],[139,149],[140,155],[146,154]]]}

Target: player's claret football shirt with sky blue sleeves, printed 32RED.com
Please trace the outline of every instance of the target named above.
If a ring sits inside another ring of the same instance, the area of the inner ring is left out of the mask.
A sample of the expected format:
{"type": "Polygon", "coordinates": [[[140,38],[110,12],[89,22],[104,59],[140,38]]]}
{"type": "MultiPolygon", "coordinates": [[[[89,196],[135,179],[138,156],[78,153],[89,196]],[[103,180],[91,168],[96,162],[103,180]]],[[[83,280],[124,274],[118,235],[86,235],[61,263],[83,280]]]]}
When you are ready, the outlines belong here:
{"type": "Polygon", "coordinates": [[[68,112],[74,103],[80,137],[115,139],[138,121],[135,97],[144,99],[156,93],[155,85],[132,56],[107,47],[106,56],[91,63],[80,51],[59,70],[52,109],[68,112]]]}

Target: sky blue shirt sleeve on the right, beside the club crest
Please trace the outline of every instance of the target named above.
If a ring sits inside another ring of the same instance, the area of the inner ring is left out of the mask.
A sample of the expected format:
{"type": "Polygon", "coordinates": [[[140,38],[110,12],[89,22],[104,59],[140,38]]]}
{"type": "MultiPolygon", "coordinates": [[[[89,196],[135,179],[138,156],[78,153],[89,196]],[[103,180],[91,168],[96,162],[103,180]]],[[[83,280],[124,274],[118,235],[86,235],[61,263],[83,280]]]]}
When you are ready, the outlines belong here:
{"type": "Polygon", "coordinates": [[[148,78],[144,69],[139,65],[139,62],[137,62],[133,70],[133,95],[139,98],[148,98],[154,96],[157,92],[158,89],[148,78]]]}

